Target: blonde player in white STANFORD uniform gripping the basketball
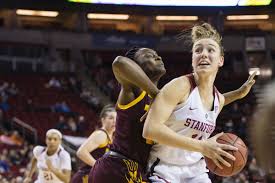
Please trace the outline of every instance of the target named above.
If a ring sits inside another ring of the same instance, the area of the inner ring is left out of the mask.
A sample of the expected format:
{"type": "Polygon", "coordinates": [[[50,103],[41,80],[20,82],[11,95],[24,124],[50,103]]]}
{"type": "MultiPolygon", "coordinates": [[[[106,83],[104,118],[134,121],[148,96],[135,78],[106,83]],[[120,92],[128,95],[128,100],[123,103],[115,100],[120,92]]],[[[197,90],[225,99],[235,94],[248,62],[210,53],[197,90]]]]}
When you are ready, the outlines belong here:
{"type": "Polygon", "coordinates": [[[221,37],[204,23],[192,28],[192,41],[194,73],[176,78],[162,88],[144,125],[143,136],[157,142],[148,163],[152,182],[210,183],[203,156],[220,168],[231,166],[224,157],[235,160],[226,150],[237,148],[216,142],[222,133],[209,138],[225,103],[214,86],[224,62],[221,37]]]}

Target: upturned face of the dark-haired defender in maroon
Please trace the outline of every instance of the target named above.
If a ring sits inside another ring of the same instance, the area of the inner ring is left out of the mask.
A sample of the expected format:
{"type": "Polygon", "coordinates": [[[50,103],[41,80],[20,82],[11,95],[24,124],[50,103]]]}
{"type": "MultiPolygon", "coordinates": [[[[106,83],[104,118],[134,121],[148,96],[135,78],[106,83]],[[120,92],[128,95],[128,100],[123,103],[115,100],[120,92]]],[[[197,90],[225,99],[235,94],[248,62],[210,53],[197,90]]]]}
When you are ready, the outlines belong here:
{"type": "Polygon", "coordinates": [[[149,48],[141,48],[137,51],[135,57],[150,79],[160,78],[165,74],[164,63],[156,51],[149,48]]]}

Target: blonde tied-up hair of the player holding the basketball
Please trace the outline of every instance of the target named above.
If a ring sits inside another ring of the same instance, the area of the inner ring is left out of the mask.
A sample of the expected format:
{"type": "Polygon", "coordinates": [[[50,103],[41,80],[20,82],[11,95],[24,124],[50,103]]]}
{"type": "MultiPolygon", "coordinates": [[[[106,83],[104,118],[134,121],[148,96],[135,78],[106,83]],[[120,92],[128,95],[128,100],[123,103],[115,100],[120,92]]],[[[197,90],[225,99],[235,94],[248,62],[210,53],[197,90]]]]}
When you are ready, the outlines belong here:
{"type": "Polygon", "coordinates": [[[193,44],[200,39],[205,39],[205,38],[213,39],[220,46],[221,55],[222,56],[224,55],[224,49],[221,43],[222,37],[218,33],[218,31],[214,27],[212,27],[209,23],[195,25],[192,28],[191,37],[192,37],[193,44]]]}

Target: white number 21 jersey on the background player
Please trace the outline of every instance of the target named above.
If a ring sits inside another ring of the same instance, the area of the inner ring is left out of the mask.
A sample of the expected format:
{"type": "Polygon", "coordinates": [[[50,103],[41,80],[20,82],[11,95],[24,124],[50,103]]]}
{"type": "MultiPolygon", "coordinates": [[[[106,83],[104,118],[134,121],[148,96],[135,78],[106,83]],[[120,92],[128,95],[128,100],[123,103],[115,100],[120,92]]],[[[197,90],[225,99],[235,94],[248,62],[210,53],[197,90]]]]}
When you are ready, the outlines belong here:
{"type": "Polygon", "coordinates": [[[51,156],[46,153],[46,147],[36,146],[33,149],[34,157],[37,160],[38,178],[35,183],[63,183],[52,172],[47,171],[46,159],[49,159],[53,167],[59,170],[71,170],[70,154],[60,146],[57,152],[51,156]]]}

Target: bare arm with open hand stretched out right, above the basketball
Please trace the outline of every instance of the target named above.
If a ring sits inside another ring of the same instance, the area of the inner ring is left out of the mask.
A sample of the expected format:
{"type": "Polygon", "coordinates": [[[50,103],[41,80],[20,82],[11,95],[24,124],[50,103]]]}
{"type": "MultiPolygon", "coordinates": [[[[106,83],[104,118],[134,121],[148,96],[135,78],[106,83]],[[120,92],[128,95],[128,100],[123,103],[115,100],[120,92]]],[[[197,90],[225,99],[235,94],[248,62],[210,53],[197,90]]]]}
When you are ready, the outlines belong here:
{"type": "Polygon", "coordinates": [[[224,93],[223,94],[224,99],[225,99],[224,105],[230,104],[230,103],[234,102],[235,100],[239,100],[239,99],[245,97],[249,93],[251,87],[255,83],[255,79],[254,79],[255,76],[256,76],[256,72],[251,74],[248,77],[247,81],[237,90],[233,90],[233,91],[224,93]]]}

